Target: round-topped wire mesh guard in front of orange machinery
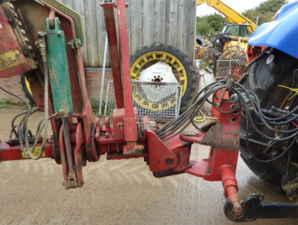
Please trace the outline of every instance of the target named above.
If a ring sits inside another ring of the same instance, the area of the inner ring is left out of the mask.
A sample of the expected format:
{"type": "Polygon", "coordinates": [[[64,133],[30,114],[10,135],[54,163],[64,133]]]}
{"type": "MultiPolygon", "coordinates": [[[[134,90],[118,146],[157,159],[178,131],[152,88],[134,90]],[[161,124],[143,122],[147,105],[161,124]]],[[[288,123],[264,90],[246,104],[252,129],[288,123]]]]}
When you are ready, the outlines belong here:
{"type": "Polygon", "coordinates": [[[218,79],[231,76],[238,81],[245,73],[248,57],[245,50],[239,46],[230,46],[217,60],[215,76],[218,79]]]}

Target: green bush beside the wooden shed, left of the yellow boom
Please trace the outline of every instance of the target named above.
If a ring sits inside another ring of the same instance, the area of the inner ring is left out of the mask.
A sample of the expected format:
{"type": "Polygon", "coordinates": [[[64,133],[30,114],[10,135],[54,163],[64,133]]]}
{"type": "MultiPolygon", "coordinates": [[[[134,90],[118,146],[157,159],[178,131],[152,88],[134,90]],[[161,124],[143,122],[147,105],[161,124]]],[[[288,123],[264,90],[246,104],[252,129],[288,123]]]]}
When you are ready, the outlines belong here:
{"type": "Polygon", "coordinates": [[[221,32],[228,20],[218,13],[197,17],[197,34],[208,36],[209,32],[221,32]]]}

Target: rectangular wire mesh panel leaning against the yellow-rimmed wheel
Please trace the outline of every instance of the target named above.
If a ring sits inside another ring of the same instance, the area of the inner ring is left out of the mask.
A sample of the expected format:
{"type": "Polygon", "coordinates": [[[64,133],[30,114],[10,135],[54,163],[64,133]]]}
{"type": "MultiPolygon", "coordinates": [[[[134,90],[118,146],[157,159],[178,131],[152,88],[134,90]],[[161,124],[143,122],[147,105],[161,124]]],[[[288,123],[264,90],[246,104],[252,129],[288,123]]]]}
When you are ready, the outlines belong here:
{"type": "MultiPolygon", "coordinates": [[[[134,107],[138,116],[158,120],[173,120],[179,116],[182,86],[176,83],[132,81],[134,107]]],[[[111,117],[116,108],[114,82],[108,81],[105,117],[111,117]]]]}

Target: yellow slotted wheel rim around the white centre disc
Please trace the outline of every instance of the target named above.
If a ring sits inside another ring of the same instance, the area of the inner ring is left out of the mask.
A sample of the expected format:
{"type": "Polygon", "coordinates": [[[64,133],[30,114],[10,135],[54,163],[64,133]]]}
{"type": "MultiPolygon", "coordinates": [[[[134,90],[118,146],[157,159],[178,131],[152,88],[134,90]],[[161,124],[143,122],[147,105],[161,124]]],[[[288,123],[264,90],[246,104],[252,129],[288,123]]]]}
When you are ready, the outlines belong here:
{"type": "MultiPolygon", "coordinates": [[[[131,66],[131,79],[139,80],[141,70],[150,62],[159,60],[162,62],[167,62],[170,66],[176,69],[178,72],[179,84],[183,87],[182,96],[185,94],[187,90],[187,73],[186,69],[181,63],[181,61],[176,58],[174,55],[167,52],[148,52],[141,57],[139,57],[134,64],[131,66]]],[[[178,80],[177,79],[177,80],[178,80]]],[[[134,88],[133,85],[133,98],[136,103],[138,103],[143,108],[150,109],[152,111],[162,111],[169,108],[172,108],[176,105],[175,101],[168,101],[167,103],[156,103],[151,102],[148,99],[145,99],[142,95],[140,95],[138,88],[134,88]]]]}

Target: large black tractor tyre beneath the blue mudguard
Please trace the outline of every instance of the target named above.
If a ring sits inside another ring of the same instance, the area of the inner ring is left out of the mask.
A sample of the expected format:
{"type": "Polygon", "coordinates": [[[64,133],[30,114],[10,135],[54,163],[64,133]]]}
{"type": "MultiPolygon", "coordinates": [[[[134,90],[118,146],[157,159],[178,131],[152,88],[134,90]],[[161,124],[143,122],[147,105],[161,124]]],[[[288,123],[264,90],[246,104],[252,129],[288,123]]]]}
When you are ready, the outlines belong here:
{"type": "MultiPolygon", "coordinates": [[[[289,94],[289,91],[277,85],[292,87],[293,71],[298,68],[298,60],[277,49],[268,48],[247,67],[245,74],[240,84],[244,85],[257,94],[260,99],[261,108],[271,109],[271,106],[280,108],[283,100],[289,94]],[[274,55],[274,60],[267,64],[267,59],[270,55],[274,55]]],[[[268,136],[275,137],[272,131],[266,127],[259,129],[268,136]]],[[[241,121],[241,136],[246,137],[246,120],[241,121]]],[[[268,142],[268,139],[260,136],[256,131],[249,130],[249,139],[260,142],[268,142]]],[[[271,159],[272,156],[265,156],[260,152],[265,149],[250,148],[247,149],[246,143],[240,145],[241,157],[248,167],[261,179],[277,191],[282,191],[281,180],[285,174],[288,154],[285,154],[281,159],[270,163],[257,162],[250,158],[252,154],[258,158],[271,159]],[[261,155],[260,155],[261,154],[261,155]]]]}

